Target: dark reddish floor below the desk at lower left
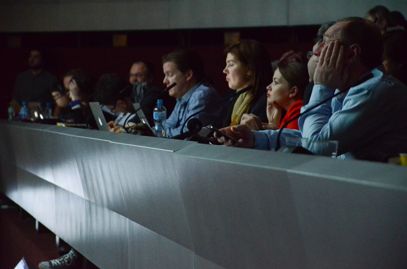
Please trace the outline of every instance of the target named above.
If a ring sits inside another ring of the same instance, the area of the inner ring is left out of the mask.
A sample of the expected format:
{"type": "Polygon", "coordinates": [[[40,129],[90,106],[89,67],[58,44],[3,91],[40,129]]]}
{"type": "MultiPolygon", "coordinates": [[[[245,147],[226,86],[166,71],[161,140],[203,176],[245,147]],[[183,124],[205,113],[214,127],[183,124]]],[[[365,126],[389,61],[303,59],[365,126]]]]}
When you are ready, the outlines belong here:
{"type": "MultiPolygon", "coordinates": [[[[28,214],[20,214],[20,208],[2,194],[0,204],[8,205],[8,208],[0,209],[1,269],[13,269],[22,257],[36,268],[39,262],[58,258],[55,234],[49,230],[37,232],[35,219],[28,214]]],[[[98,269],[91,262],[83,260],[80,268],[98,269]]]]}

